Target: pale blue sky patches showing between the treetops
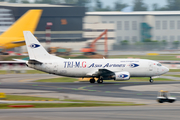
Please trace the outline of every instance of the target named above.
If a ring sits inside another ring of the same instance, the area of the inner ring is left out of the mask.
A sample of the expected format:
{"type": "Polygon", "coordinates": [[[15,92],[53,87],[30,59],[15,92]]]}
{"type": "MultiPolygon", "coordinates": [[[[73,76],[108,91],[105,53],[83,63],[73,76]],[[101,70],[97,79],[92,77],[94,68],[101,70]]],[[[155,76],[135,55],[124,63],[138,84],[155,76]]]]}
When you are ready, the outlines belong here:
{"type": "MultiPolygon", "coordinates": [[[[94,1],[94,0],[93,0],[94,1]]],[[[101,0],[103,2],[103,6],[113,6],[113,3],[117,0],[101,0]]],[[[128,5],[132,5],[134,0],[122,0],[122,3],[126,3],[128,5]]],[[[152,4],[158,3],[160,7],[163,7],[167,4],[167,0],[144,0],[144,3],[148,5],[149,10],[152,10],[152,4]]]]}

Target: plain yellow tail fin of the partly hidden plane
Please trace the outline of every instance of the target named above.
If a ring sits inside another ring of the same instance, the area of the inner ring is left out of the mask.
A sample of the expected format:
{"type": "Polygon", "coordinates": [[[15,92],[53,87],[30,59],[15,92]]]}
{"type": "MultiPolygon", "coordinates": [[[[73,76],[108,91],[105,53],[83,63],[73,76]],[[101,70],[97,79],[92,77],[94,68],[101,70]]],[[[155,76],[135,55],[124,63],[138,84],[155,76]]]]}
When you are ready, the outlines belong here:
{"type": "Polygon", "coordinates": [[[0,37],[23,37],[23,31],[27,30],[34,33],[41,14],[42,10],[40,9],[27,11],[0,37]]]}

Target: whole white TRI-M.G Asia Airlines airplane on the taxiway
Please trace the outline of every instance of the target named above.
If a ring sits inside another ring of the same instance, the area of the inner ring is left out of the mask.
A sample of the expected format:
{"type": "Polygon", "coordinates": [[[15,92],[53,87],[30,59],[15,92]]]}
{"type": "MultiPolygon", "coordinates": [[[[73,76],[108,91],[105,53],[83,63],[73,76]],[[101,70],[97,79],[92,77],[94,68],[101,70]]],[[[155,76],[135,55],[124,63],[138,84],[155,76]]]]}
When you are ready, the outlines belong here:
{"type": "Polygon", "coordinates": [[[103,80],[124,81],[130,77],[160,76],[169,71],[159,62],[146,59],[64,59],[49,54],[30,31],[24,31],[30,68],[67,77],[91,77],[90,83],[103,80]]]}

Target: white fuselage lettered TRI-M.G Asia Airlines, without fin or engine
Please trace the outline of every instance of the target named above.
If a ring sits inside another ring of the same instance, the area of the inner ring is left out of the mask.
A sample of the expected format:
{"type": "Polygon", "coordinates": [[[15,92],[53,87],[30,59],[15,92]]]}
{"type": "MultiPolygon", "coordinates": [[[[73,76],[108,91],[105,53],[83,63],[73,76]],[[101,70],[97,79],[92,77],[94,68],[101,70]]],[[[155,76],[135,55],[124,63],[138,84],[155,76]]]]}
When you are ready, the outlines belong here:
{"type": "Polygon", "coordinates": [[[59,59],[28,64],[29,67],[50,74],[70,77],[89,77],[99,69],[129,72],[131,77],[153,77],[169,71],[158,62],[146,59],[59,59]]]}

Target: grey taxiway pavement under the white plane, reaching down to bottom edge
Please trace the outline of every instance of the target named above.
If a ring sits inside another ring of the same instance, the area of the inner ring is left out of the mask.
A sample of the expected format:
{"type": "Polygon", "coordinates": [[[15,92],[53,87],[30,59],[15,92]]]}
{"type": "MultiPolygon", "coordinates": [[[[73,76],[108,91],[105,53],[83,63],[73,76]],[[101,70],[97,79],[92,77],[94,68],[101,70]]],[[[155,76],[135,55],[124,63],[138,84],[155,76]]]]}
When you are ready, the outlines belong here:
{"type": "Polygon", "coordinates": [[[0,91],[13,95],[54,97],[99,101],[145,103],[145,106],[83,107],[46,109],[0,109],[2,120],[179,120],[180,102],[157,103],[157,92],[169,90],[180,99],[180,82],[105,82],[103,84],[35,83],[39,78],[53,78],[48,74],[1,75],[0,91]],[[8,82],[7,82],[8,81],[8,82]]]}

